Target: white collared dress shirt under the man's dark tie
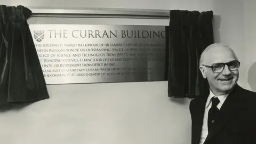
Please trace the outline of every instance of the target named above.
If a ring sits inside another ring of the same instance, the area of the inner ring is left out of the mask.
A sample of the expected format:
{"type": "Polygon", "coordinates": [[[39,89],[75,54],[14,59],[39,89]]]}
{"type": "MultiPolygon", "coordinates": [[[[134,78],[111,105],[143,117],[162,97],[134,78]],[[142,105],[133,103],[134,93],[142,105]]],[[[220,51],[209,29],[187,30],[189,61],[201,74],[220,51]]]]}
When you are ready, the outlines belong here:
{"type": "MultiPolygon", "coordinates": [[[[207,98],[206,105],[205,105],[202,133],[201,133],[201,139],[199,144],[203,144],[208,135],[208,111],[212,107],[212,101],[211,101],[212,97],[217,97],[217,96],[215,96],[210,90],[210,94],[209,94],[209,97],[207,98]]],[[[228,94],[219,95],[217,97],[220,100],[219,104],[217,105],[218,109],[221,108],[221,106],[223,105],[227,97],[228,97],[228,94]]]]}

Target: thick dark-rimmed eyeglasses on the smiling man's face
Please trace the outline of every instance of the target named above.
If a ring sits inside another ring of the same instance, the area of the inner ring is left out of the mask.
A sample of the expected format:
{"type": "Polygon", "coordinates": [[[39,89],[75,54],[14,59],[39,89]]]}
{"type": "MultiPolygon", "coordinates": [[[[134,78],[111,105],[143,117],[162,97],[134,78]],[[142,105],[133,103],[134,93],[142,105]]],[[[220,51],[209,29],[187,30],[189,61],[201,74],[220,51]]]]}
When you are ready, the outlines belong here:
{"type": "Polygon", "coordinates": [[[212,66],[203,66],[211,68],[214,73],[221,73],[226,65],[228,66],[228,69],[230,71],[233,71],[237,70],[240,67],[240,62],[238,60],[233,60],[226,63],[214,63],[212,66]]]}

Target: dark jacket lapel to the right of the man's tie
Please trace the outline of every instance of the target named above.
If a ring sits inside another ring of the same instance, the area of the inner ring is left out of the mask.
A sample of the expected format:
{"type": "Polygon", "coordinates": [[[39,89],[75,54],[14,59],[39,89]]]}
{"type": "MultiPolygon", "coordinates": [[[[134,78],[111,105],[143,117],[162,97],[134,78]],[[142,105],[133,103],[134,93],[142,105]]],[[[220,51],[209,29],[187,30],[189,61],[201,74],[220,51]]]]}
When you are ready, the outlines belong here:
{"type": "Polygon", "coordinates": [[[235,116],[236,111],[238,110],[238,89],[239,86],[236,85],[234,89],[229,93],[227,99],[225,100],[220,109],[219,116],[214,122],[212,131],[209,132],[204,143],[207,143],[207,141],[212,139],[230,121],[231,117],[235,116]]]}

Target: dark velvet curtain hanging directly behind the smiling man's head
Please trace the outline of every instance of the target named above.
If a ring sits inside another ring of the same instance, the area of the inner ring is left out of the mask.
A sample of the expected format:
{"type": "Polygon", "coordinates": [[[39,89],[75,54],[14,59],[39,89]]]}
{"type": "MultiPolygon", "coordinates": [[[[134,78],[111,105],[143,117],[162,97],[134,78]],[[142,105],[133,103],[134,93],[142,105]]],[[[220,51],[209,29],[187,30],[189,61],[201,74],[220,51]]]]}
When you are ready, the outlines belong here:
{"type": "Polygon", "coordinates": [[[170,11],[169,97],[197,98],[209,91],[199,70],[199,58],[213,43],[212,20],[212,11],[170,11]]]}

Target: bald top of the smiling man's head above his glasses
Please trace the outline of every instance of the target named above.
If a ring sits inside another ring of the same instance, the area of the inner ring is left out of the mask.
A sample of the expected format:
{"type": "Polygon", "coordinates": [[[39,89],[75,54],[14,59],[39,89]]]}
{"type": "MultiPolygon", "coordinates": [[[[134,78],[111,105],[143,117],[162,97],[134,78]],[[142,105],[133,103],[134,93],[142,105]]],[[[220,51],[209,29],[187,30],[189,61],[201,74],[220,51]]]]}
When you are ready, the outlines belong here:
{"type": "Polygon", "coordinates": [[[203,62],[206,62],[209,59],[213,59],[212,56],[222,54],[222,53],[229,53],[233,55],[235,60],[237,60],[235,52],[228,45],[221,44],[221,43],[214,43],[207,46],[206,49],[202,52],[199,65],[201,66],[203,62]]]}

